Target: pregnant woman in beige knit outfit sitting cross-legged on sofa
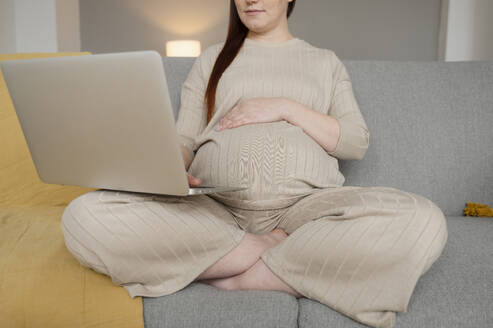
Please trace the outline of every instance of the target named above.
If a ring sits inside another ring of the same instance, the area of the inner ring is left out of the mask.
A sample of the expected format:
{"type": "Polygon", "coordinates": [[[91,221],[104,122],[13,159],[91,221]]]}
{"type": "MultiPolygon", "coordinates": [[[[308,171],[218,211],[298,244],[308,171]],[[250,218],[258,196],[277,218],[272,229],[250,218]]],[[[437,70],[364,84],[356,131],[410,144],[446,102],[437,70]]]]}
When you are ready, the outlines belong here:
{"type": "Polygon", "coordinates": [[[226,41],[195,60],[182,87],[190,185],[248,188],[91,191],[63,213],[66,246],[132,298],[200,281],[283,291],[393,327],[445,246],[445,217],[417,194],[343,186],[338,159],[361,160],[369,131],[341,60],[290,34],[294,5],[231,0],[226,41]]]}

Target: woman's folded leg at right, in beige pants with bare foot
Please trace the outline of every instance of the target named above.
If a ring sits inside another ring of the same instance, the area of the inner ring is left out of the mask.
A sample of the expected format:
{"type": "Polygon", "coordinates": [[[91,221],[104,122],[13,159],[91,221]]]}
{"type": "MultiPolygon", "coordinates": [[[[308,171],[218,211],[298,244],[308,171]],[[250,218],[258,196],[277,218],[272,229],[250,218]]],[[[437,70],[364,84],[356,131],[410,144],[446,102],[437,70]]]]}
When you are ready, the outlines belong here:
{"type": "Polygon", "coordinates": [[[407,310],[447,241],[438,206],[389,187],[323,190],[294,204],[277,228],[288,236],[247,271],[209,283],[303,295],[373,327],[392,327],[395,312],[407,310]]]}

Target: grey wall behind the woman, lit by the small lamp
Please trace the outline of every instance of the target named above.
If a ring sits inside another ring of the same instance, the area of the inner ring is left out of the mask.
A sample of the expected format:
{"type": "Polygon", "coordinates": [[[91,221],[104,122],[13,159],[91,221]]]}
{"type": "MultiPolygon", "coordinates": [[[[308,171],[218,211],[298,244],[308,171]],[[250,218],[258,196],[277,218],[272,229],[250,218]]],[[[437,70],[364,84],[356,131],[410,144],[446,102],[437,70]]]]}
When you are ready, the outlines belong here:
{"type": "MultiPolygon", "coordinates": [[[[493,1],[493,0],[491,0],[493,1]]],[[[229,0],[81,0],[82,50],[156,50],[224,41],[229,0]]],[[[436,60],[440,0],[298,0],[293,35],[344,59],[436,60]]]]}

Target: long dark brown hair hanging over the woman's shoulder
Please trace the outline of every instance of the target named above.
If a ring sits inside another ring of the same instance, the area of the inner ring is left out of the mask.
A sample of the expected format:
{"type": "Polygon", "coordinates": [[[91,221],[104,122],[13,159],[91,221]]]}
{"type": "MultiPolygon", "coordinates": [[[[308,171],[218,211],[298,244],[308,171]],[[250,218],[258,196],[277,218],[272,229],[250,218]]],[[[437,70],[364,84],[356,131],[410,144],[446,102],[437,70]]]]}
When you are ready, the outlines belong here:
{"type": "MultiPolygon", "coordinates": [[[[295,3],[296,0],[293,0],[288,4],[288,18],[294,9],[295,3]]],[[[229,5],[228,35],[226,36],[224,46],[217,56],[214,67],[212,68],[212,72],[209,77],[209,83],[207,84],[207,89],[204,95],[204,101],[207,104],[207,123],[209,123],[212,118],[212,111],[214,110],[214,105],[216,103],[216,89],[217,84],[219,83],[219,79],[240,51],[241,46],[243,45],[243,42],[245,41],[245,38],[248,34],[248,31],[248,28],[245,26],[245,24],[243,24],[240,17],[238,16],[238,11],[236,10],[234,0],[231,0],[229,5]]]]}

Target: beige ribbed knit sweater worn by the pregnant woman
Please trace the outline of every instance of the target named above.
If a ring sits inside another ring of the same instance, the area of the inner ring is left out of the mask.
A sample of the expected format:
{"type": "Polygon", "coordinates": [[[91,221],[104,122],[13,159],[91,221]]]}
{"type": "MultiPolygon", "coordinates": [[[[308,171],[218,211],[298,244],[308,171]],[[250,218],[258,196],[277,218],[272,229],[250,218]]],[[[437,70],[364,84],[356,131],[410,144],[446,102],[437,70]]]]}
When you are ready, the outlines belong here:
{"type": "Polygon", "coordinates": [[[245,39],[219,80],[214,114],[206,125],[204,93],[223,45],[203,51],[182,86],[176,127],[182,144],[196,152],[189,173],[204,186],[249,187],[211,194],[244,209],[283,208],[320,188],[342,186],[337,159],[363,158],[369,132],[335,53],[298,38],[279,43],[245,39]],[[341,132],[335,151],[327,152],[284,120],[214,130],[240,100],[256,97],[290,98],[336,118],[341,132]]]}

